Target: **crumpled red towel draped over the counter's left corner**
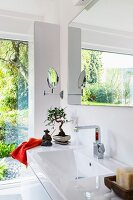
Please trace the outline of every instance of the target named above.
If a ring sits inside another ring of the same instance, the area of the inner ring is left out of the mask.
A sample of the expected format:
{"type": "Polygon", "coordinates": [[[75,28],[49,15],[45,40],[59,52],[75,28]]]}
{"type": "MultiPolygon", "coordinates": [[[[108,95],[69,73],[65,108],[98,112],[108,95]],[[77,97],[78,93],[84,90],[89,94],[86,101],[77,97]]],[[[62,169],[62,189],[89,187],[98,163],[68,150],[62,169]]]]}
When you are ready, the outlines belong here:
{"type": "Polygon", "coordinates": [[[14,151],[12,151],[10,155],[14,159],[28,166],[26,151],[28,149],[41,145],[41,143],[42,143],[42,139],[30,138],[28,142],[23,142],[14,151]]]}

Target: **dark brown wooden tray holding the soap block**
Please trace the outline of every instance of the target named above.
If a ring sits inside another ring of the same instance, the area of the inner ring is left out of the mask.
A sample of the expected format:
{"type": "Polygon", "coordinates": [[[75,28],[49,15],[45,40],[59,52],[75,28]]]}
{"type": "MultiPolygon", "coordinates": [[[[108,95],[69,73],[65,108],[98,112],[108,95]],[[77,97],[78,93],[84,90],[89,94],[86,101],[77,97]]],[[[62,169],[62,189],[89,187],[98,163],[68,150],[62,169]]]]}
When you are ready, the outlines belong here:
{"type": "Polygon", "coordinates": [[[109,176],[104,178],[105,185],[112,189],[119,197],[125,200],[133,200],[133,190],[126,190],[116,183],[116,176],[109,176]]]}

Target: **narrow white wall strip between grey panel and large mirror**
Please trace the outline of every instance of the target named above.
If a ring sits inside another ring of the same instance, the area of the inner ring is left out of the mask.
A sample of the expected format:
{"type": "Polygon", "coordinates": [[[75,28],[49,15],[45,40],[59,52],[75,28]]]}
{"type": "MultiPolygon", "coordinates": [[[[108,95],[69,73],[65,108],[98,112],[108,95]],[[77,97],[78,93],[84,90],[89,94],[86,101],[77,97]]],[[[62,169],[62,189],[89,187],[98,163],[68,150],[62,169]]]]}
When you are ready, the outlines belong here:
{"type": "Polygon", "coordinates": [[[75,7],[71,0],[60,0],[60,73],[61,90],[64,90],[63,106],[67,105],[68,80],[68,23],[80,13],[83,7],[75,7]]]}

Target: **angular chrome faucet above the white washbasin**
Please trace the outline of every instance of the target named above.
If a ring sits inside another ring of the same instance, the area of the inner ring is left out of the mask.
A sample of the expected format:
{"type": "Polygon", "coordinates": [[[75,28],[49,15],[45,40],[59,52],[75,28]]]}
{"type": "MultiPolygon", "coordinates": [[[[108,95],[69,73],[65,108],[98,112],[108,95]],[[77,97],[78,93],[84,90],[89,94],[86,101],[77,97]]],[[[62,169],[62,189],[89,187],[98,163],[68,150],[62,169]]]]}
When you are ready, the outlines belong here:
{"type": "Polygon", "coordinates": [[[101,143],[101,129],[98,125],[89,125],[89,126],[75,126],[74,131],[78,132],[82,129],[95,129],[95,142],[93,143],[93,154],[94,157],[98,159],[103,159],[105,148],[101,143]]]}

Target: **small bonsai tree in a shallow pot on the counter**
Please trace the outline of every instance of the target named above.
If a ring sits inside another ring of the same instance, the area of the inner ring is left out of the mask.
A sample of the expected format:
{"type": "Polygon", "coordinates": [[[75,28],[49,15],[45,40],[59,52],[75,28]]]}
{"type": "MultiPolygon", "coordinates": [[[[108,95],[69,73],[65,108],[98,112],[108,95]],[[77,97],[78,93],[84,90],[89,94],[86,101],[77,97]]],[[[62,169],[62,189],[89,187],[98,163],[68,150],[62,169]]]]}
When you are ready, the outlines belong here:
{"type": "Polygon", "coordinates": [[[59,134],[54,135],[53,139],[55,140],[55,143],[57,144],[68,144],[69,140],[71,139],[70,135],[66,135],[65,132],[62,129],[62,126],[64,123],[68,122],[66,119],[66,113],[63,108],[50,108],[48,110],[48,116],[45,122],[48,122],[47,125],[49,126],[55,126],[55,123],[59,123],[59,134]]]}

